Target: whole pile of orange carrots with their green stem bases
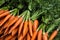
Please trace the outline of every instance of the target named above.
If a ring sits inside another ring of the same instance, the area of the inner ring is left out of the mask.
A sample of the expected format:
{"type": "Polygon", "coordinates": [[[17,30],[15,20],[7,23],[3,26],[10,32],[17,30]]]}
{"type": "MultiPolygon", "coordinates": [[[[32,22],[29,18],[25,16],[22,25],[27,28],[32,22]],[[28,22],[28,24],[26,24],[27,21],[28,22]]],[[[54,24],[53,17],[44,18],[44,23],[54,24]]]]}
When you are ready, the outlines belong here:
{"type": "Polygon", "coordinates": [[[0,40],[53,40],[60,27],[49,37],[48,33],[53,30],[55,25],[53,24],[47,32],[45,24],[39,25],[37,18],[43,12],[36,12],[31,16],[29,10],[20,15],[16,15],[17,9],[0,10],[0,40]]]}

